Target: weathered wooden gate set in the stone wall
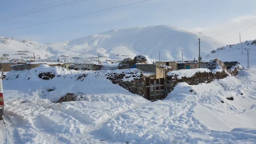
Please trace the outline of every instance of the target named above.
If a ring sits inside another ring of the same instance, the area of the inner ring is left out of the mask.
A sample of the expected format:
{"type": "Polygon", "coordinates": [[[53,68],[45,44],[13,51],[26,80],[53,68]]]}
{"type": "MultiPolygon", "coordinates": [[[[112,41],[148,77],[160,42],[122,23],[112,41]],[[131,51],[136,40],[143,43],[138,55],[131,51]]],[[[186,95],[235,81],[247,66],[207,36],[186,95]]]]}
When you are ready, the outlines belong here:
{"type": "Polygon", "coordinates": [[[166,97],[166,84],[164,78],[145,78],[145,81],[145,98],[151,101],[156,101],[166,97]]]}

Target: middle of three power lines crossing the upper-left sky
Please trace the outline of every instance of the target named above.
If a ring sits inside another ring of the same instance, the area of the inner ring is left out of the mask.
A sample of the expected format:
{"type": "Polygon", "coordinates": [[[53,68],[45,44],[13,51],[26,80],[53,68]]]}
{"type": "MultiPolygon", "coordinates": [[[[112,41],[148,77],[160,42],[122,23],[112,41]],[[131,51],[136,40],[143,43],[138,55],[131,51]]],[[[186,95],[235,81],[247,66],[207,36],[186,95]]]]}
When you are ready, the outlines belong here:
{"type": "MultiPolygon", "coordinates": [[[[10,19],[14,19],[14,18],[19,18],[19,17],[22,17],[22,16],[27,16],[27,15],[30,15],[30,14],[35,14],[35,13],[38,13],[38,12],[44,12],[46,10],[52,10],[52,9],[55,9],[55,8],[60,8],[60,7],[63,7],[63,6],[68,6],[68,5],[71,5],[71,4],[76,4],[78,2],[75,2],[75,1],[79,1],[79,0],[73,0],[71,2],[66,2],[66,3],[63,3],[63,4],[58,4],[56,6],[50,6],[48,8],[43,8],[43,9],[40,9],[40,10],[35,10],[35,11],[32,11],[32,12],[28,12],[28,13],[25,13],[25,14],[20,14],[18,16],[12,16],[10,18],[4,18],[2,19],[1,21],[6,21],[6,20],[10,20],[10,19]],[[71,4],[68,4],[68,3],[71,3],[71,4]]],[[[87,0],[83,0],[83,1],[80,1],[80,2],[84,2],[84,1],[87,1],[87,0]]]]}

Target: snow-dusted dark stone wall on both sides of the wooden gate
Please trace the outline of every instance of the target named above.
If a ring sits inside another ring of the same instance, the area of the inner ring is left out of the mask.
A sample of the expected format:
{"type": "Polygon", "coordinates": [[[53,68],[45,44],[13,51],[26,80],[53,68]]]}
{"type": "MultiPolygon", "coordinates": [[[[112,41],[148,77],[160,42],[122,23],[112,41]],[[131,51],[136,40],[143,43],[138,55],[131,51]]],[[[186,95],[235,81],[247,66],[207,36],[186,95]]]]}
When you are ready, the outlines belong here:
{"type": "MultiPolygon", "coordinates": [[[[210,83],[215,79],[222,79],[226,78],[228,75],[236,76],[239,70],[238,66],[235,66],[231,70],[228,70],[226,68],[226,65],[224,62],[221,61],[211,61],[208,63],[207,68],[210,70],[216,69],[218,66],[222,68],[221,72],[216,72],[213,73],[211,72],[196,72],[193,76],[187,78],[187,77],[182,77],[181,79],[177,78],[177,75],[174,76],[167,76],[166,77],[166,89],[167,89],[167,94],[170,93],[174,86],[178,84],[179,82],[186,82],[190,85],[197,85],[200,83],[210,83]]],[[[130,92],[134,94],[138,94],[141,96],[144,96],[144,89],[145,89],[145,77],[143,76],[143,73],[140,73],[140,76],[137,76],[138,74],[130,72],[134,78],[132,81],[125,81],[123,80],[125,76],[127,75],[125,72],[122,73],[108,73],[108,78],[112,81],[113,84],[118,84],[125,88],[126,90],[129,90],[130,92]]]]}

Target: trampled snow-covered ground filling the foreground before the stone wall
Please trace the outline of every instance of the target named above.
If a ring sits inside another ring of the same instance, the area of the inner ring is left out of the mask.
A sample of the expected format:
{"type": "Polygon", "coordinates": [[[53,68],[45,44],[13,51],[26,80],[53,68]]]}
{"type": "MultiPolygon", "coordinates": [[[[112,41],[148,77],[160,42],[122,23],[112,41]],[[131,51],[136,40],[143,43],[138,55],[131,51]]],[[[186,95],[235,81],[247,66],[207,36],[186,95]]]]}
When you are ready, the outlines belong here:
{"type": "MultiPolygon", "coordinates": [[[[179,83],[164,100],[156,102],[112,84],[106,79],[108,72],[46,65],[8,72],[8,80],[3,80],[1,142],[256,143],[256,73],[251,70],[241,69],[238,76],[209,84],[179,83]],[[56,76],[42,80],[38,74],[45,71],[56,76]],[[78,96],[76,101],[54,103],[67,93],[78,96]],[[226,99],[230,97],[234,100],[226,99]]],[[[186,72],[182,74],[194,73],[186,72]]]]}

